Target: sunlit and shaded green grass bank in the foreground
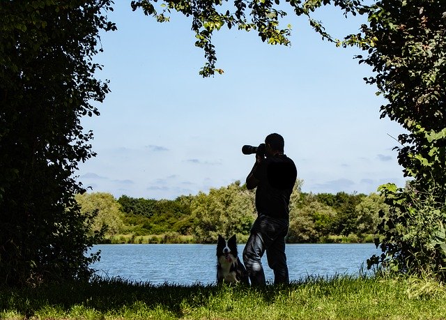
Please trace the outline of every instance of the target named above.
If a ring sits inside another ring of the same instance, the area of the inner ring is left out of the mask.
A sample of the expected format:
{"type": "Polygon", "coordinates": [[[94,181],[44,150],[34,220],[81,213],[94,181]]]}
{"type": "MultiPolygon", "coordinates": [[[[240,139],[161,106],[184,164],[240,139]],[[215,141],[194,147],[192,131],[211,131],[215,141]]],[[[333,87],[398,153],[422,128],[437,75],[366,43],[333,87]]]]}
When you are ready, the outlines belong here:
{"type": "Polygon", "coordinates": [[[289,286],[121,280],[1,289],[1,319],[445,319],[446,289],[416,279],[333,277],[289,286]]]}

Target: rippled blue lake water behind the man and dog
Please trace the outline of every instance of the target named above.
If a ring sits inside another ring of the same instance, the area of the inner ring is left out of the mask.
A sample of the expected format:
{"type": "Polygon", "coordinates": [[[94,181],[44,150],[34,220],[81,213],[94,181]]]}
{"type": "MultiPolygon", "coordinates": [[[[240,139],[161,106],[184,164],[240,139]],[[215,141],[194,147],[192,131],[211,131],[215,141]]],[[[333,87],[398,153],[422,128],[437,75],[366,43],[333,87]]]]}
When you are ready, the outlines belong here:
{"type": "MultiPolygon", "coordinates": [[[[244,245],[239,245],[239,257],[244,245]]],[[[96,274],[152,284],[211,284],[215,282],[215,245],[96,245],[101,259],[96,274]]],[[[374,244],[289,244],[286,254],[290,280],[307,275],[358,275],[366,260],[378,253],[374,244]]],[[[262,259],[267,281],[273,274],[262,259]]]]}

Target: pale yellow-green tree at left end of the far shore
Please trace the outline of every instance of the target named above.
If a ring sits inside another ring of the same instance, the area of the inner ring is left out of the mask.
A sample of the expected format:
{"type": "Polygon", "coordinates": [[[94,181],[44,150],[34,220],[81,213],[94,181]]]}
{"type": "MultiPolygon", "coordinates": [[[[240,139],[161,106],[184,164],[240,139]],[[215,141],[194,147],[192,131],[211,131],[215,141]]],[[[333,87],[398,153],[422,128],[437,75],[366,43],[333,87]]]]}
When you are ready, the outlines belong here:
{"type": "Polygon", "coordinates": [[[107,228],[107,234],[114,235],[123,231],[123,213],[121,206],[113,195],[105,192],[84,193],[75,195],[75,200],[81,206],[82,214],[93,214],[95,218],[91,224],[90,234],[107,228]]]}

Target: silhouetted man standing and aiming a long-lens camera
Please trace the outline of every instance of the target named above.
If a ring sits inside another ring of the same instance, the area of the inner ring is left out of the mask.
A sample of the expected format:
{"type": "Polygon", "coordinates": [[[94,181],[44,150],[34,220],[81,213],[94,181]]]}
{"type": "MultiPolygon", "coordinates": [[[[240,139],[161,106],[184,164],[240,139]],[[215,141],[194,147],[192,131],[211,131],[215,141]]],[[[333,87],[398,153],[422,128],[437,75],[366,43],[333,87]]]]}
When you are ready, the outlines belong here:
{"type": "Polygon", "coordinates": [[[284,138],[268,135],[258,148],[244,146],[243,153],[256,152],[256,162],[246,178],[249,190],[256,189],[257,218],[243,250],[243,261],[252,286],[266,285],[261,257],[266,251],[275,284],[289,283],[285,236],[289,228],[289,201],[297,171],[284,155],[284,138]]]}

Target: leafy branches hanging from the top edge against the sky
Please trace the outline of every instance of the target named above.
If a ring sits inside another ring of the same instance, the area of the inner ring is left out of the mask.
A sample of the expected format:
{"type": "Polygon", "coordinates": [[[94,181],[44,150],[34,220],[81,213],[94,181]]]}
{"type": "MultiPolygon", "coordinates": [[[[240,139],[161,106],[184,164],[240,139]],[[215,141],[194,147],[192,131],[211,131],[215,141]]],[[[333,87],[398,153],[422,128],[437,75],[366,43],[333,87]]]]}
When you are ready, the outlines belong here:
{"type": "MultiPolygon", "coordinates": [[[[227,26],[228,29],[234,27],[238,30],[256,31],[259,38],[270,45],[290,45],[288,37],[291,33],[291,25],[280,26],[280,19],[286,16],[286,12],[279,6],[279,0],[234,0],[233,5],[227,0],[164,0],[160,2],[162,3],[159,7],[155,7],[157,0],[134,0],[131,5],[133,10],[140,8],[145,15],[152,15],[157,22],[169,21],[171,11],[191,17],[191,29],[197,38],[195,46],[203,49],[207,60],[199,72],[203,77],[224,72],[220,68],[215,68],[217,56],[212,43],[213,32],[220,30],[223,26],[227,26]]],[[[312,18],[312,12],[316,8],[332,3],[344,10],[345,15],[347,13],[355,15],[357,10],[362,10],[361,2],[361,0],[286,0],[296,15],[307,17],[314,30],[320,33],[322,38],[331,41],[334,40],[325,32],[321,22],[312,18]]]]}

